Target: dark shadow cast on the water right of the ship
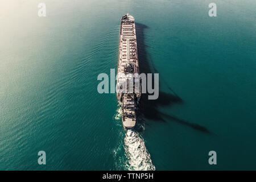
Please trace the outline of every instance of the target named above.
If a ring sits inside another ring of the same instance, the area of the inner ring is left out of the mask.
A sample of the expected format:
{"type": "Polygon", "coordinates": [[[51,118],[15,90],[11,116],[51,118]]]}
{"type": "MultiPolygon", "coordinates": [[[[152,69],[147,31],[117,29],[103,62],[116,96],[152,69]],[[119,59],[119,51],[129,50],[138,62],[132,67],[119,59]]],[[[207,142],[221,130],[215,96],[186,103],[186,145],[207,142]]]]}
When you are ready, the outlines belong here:
{"type": "MultiPolygon", "coordinates": [[[[146,52],[147,46],[144,42],[145,41],[144,31],[147,28],[148,27],[144,24],[136,23],[140,73],[159,73],[158,71],[156,71],[156,69],[154,68],[154,66],[152,65],[152,63],[150,62],[147,56],[147,52],[146,52]]],[[[152,80],[154,80],[154,78],[152,80]]],[[[161,84],[164,84],[163,81],[160,81],[160,80],[161,79],[159,75],[159,86],[161,84]]],[[[154,85],[154,83],[152,85],[154,85]]],[[[160,122],[172,121],[172,122],[180,123],[181,125],[191,127],[191,129],[194,129],[206,134],[211,134],[210,131],[204,126],[185,121],[184,119],[177,118],[173,115],[162,113],[158,109],[159,106],[170,107],[171,105],[174,105],[174,104],[183,103],[183,100],[174,92],[174,90],[170,86],[166,85],[166,87],[168,88],[168,93],[161,92],[159,89],[159,97],[156,100],[148,100],[148,94],[142,94],[141,101],[139,103],[138,117],[139,117],[139,120],[141,120],[139,122],[148,124],[145,122],[145,119],[150,119],[151,121],[153,120],[153,121],[160,121],[160,122]]],[[[141,127],[138,127],[137,130],[141,130],[141,127]]]]}

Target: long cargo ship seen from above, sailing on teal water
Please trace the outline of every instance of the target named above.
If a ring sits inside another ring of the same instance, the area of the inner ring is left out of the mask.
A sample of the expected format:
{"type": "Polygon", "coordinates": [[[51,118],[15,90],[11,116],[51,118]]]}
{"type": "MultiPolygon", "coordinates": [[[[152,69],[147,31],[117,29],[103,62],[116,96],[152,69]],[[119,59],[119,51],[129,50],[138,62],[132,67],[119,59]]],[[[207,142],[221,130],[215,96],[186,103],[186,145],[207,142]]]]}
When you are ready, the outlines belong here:
{"type": "Polygon", "coordinates": [[[117,99],[122,106],[123,127],[133,129],[141,98],[141,80],[137,77],[139,60],[135,22],[129,14],[123,15],[121,19],[117,74],[117,99]]]}

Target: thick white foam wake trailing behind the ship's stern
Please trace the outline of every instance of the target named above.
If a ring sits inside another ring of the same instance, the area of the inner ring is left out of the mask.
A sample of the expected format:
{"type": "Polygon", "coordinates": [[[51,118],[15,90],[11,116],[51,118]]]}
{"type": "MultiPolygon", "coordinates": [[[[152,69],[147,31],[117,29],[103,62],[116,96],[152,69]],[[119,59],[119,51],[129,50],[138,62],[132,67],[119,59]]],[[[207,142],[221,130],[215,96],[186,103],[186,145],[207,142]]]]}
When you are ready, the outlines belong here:
{"type": "Polygon", "coordinates": [[[154,171],[150,154],[148,154],[144,140],[137,131],[127,130],[125,135],[126,166],[129,170],[154,171]]]}

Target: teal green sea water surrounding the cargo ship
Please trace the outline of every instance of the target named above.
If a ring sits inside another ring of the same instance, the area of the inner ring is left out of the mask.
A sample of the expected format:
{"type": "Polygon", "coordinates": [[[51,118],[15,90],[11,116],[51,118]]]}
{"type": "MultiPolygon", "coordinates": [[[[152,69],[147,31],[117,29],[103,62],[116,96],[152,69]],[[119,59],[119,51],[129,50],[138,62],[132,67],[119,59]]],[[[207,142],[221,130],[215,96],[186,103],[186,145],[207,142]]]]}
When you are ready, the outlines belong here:
{"type": "Polygon", "coordinates": [[[256,1],[215,0],[209,17],[211,2],[1,1],[0,169],[255,170],[256,1]],[[97,76],[117,68],[127,13],[160,93],[126,131],[97,76]]]}

